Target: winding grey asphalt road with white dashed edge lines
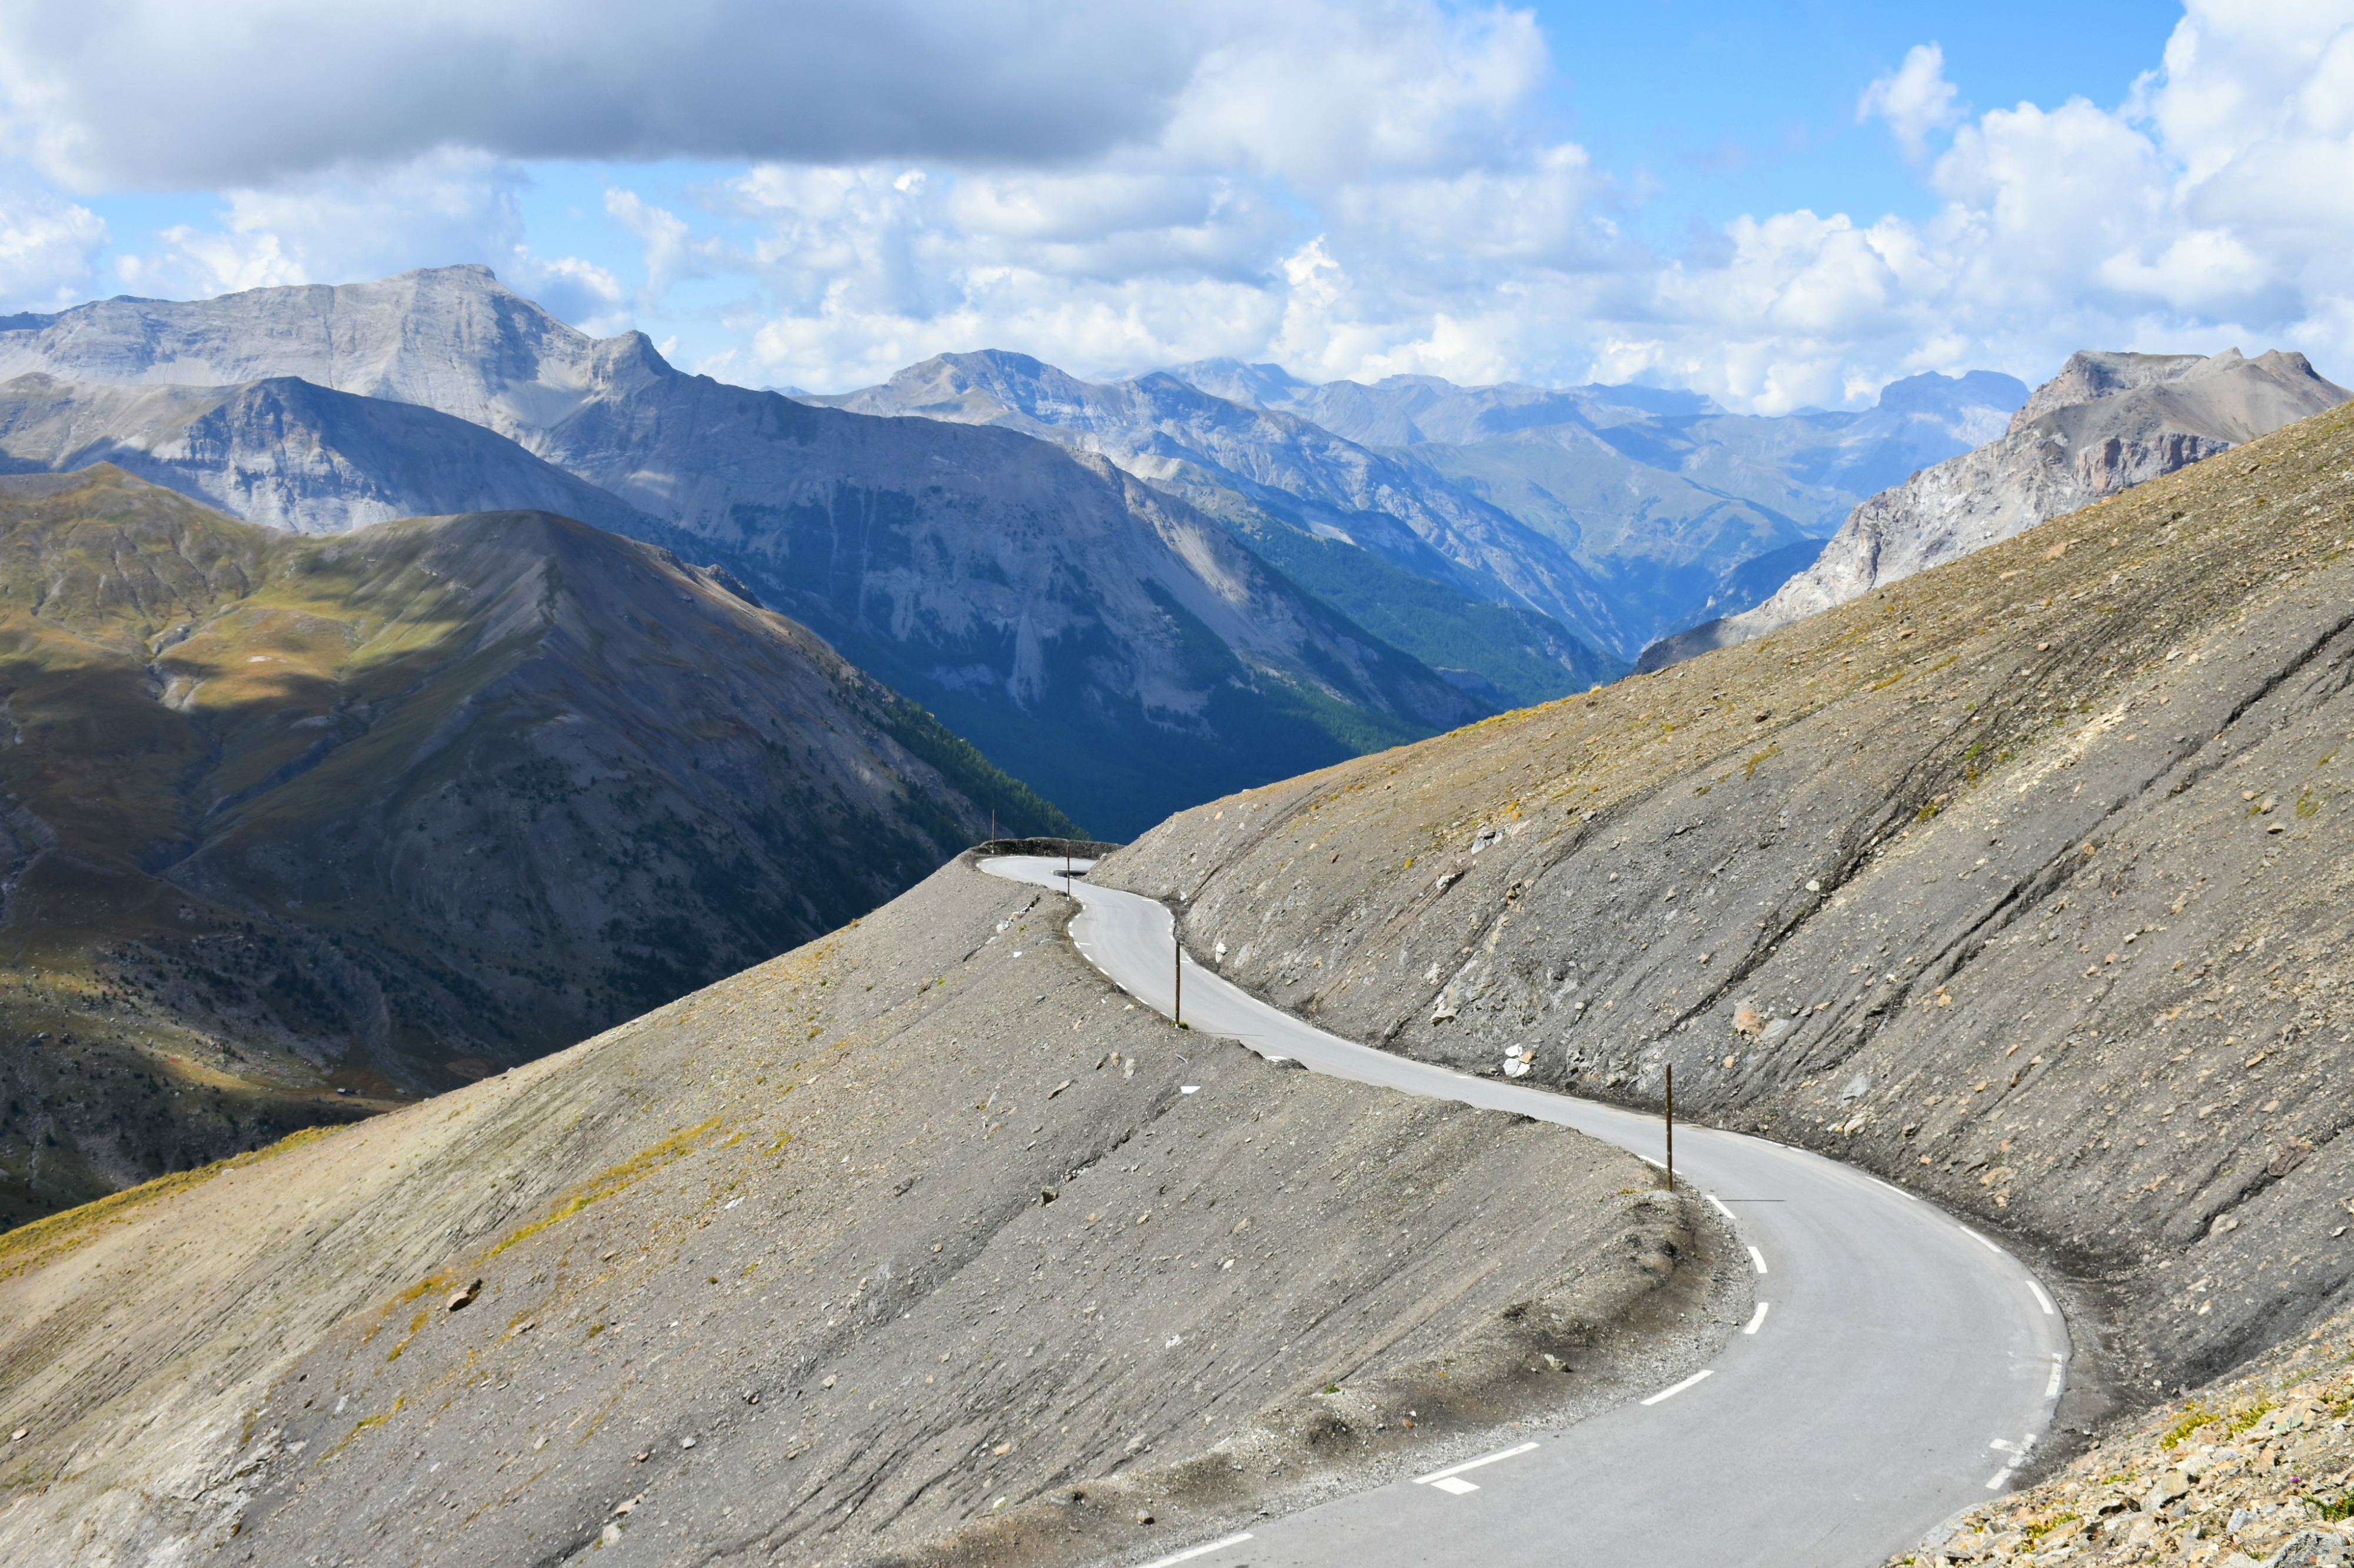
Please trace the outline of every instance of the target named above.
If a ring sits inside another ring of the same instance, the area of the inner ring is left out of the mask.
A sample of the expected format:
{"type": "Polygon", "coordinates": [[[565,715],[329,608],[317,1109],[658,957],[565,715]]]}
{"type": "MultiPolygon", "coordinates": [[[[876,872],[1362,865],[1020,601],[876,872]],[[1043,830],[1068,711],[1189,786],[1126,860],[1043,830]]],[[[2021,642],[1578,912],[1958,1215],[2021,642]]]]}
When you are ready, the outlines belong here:
{"type": "MultiPolygon", "coordinates": [[[[1069,885],[1078,951],[1170,1012],[1168,909],[1066,883],[1059,859],[982,869],[1069,885]]],[[[1184,1019],[1335,1078],[1518,1111],[1653,1163],[1664,1151],[1655,1116],[1342,1041],[1191,958],[1184,1019]]],[[[1740,1132],[1678,1128],[1676,1180],[1733,1220],[1758,1274],[1756,1316],[1697,1377],[1161,1563],[1862,1568],[2010,1486],[2050,1427],[2069,1356],[2067,1323],[2017,1257],[1876,1177],[1740,1132]]]]}

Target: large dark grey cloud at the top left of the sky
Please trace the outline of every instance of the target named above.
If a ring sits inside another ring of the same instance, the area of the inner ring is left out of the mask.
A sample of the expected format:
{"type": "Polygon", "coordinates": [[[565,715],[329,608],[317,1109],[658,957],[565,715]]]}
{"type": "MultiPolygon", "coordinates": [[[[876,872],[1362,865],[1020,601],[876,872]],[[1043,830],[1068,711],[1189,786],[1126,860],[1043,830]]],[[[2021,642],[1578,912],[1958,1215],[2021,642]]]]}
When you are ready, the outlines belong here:
{"type": "Polygon", "coordinates": [[[0,127],[80,188],[499,158],[1066,162],[1151,141],[1222,7],[0,0],[0,127]]]}

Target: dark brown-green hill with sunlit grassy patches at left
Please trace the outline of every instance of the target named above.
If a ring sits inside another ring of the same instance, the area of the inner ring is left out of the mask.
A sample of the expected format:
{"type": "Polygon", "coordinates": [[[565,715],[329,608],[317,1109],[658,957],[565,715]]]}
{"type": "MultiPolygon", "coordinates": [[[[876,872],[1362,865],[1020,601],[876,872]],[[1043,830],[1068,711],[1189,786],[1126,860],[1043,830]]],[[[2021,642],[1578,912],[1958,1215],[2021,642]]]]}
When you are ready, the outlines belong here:
{"type": "Polygon", "coordinates": [[[0,1220],[452,1088],[1066,829],[803,626],[548,513],[301,539],[0,480],[0,1220]]]}

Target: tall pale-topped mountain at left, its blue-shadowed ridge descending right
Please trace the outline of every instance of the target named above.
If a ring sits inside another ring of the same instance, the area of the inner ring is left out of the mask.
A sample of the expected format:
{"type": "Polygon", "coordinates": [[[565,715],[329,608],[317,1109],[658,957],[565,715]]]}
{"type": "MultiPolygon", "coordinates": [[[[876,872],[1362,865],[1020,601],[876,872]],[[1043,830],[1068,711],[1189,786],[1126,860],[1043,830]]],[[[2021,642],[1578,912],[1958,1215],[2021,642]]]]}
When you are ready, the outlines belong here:
{"type": "Polygon", "coordinates": [[[687,377],[478,266],[99,301],[0,332],[0,374],[28,372],[301,377],[497,431],[723,556],[1102,833],[1488,709],[1099,459],[687,377]]]}

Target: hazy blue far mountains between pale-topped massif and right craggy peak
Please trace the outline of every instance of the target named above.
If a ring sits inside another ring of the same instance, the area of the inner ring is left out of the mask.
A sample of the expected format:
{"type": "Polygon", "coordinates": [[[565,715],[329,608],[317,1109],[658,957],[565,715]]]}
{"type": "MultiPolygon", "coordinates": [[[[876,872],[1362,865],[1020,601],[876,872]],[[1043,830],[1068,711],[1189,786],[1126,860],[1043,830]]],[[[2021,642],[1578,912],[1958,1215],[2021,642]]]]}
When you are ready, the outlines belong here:
{"type": "MultiPolygon", "coordinates": [[[[1316,386],[1238,360],[1080,381],[984,351],[800,398],[1102,452],[1243,530],[1304,586],[1431,664],[1467,662],[1459,612],[1417,605],[1382,619],[1389,582],[1349,596],[1351,577],[1370,574],[1363,556],[1471,605],[1549,617],[1554,643],[1565,631],[1603,655],[1554,655],[1570,680],[1514,692],[1532,702],[1575,690],[1591,664],[1617,673],[1653,638],[1756,603],[1803,570],[1864,494],[1999,436],[2027,386],[1982,370],[1923,374],[1888,386],[1874,410],[1761,419],[1638,386],[1316,386]],[[1311,539],[1356,546],[1356,558],[1311,539]]],[[[1530,640],[1540,631],[1523,626],[1530,640]]]]}

